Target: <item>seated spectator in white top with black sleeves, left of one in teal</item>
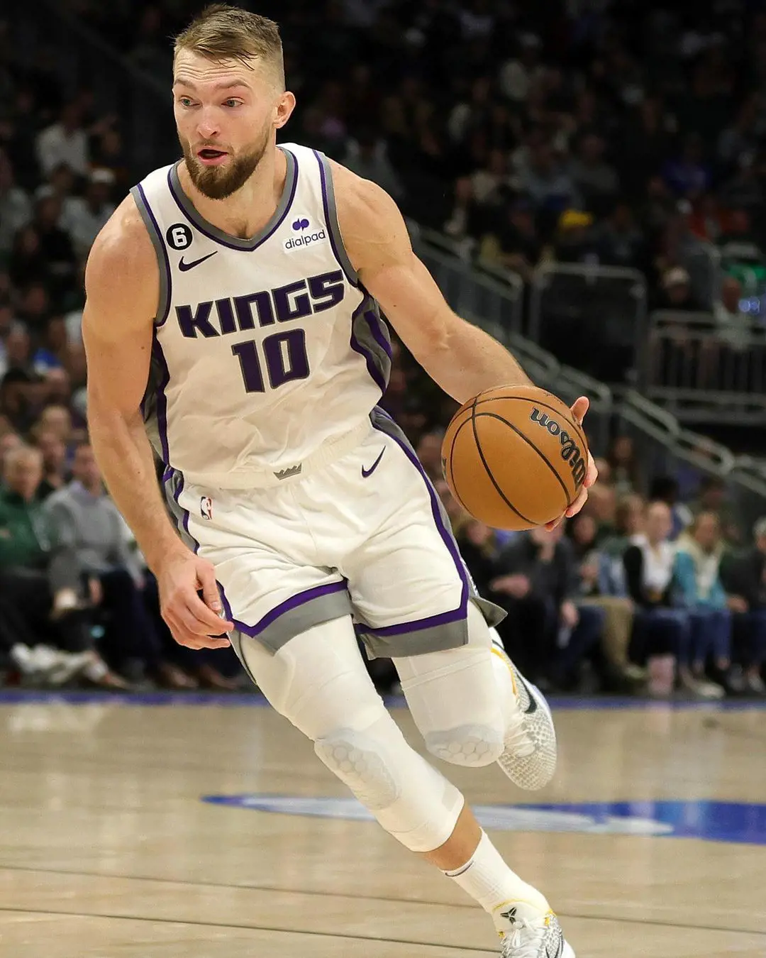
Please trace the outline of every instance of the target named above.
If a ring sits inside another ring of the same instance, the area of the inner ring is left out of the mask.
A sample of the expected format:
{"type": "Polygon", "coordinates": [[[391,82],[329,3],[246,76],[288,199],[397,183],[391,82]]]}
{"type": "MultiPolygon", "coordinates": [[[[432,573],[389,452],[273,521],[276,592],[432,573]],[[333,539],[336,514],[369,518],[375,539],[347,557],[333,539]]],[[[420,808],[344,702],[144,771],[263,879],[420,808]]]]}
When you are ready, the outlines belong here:
{"type": "MultiPolygon", "coordinates": [[[[628,593],[636,605],[636,642],[644,650],[652,696],[669,696],[677,660],[687,658],[688,615],[675,597],[672,517],[665,502],[646,508],[644,532],[632,537],[622,563],[628,593]]],[[[706,691],[702,685],[697,691],[706,691]]]]}

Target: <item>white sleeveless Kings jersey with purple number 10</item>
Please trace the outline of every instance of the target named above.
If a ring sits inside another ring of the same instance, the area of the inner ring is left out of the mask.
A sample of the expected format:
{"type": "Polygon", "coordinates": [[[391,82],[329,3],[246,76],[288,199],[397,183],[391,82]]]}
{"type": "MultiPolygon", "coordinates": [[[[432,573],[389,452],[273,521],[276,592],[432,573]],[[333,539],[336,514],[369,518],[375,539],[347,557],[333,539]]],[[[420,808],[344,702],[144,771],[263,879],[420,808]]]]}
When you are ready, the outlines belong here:
{"type": "Polygon", "coordinates": [[[281,148],[282,199],[251,239],[200,216],[177,164],[131,191],[160,269],[147,431],[191,483],[296,475],[369,427],[388,382],[389,333],[345,252],[327,158],[281,148]]]}

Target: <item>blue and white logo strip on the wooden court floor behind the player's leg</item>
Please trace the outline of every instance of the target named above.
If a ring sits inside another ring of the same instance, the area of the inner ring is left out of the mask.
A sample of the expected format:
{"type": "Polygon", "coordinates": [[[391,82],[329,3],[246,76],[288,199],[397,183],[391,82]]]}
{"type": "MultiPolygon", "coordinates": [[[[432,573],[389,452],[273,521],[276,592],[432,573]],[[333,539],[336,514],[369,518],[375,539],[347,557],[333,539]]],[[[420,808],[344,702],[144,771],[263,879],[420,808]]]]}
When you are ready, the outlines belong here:
{"type": "MultiPolygon", "coordinates": [[[[374,820],[371,812],[353,798],[206,795],[202,800],[212,805],[282,815],[340,818],[355,822],[374,820]]],[[[500,832],[622,834],[766,845],[766,805],[744,802],[702,800],[478,805],[473,806],[473,810],[483,828],[500,832]]]]}

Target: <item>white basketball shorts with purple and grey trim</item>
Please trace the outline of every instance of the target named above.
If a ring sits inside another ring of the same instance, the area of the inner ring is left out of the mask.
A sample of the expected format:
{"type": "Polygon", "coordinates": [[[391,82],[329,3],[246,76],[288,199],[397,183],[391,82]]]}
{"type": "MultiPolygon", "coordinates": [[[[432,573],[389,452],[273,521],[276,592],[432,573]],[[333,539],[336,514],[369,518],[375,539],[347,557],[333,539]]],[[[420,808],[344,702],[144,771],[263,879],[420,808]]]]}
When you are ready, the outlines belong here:
{"type": "Polygon", "coordinates": [[[375,409],[361,435],[333,462],[268,488],[206,489],[169,469],[181,535],[214,563],[228,618],[270,650],[348,614],[372,656],[462,646],[469,601],[490,625],[505,613],[476,595],[399,427],[375,409]]]}

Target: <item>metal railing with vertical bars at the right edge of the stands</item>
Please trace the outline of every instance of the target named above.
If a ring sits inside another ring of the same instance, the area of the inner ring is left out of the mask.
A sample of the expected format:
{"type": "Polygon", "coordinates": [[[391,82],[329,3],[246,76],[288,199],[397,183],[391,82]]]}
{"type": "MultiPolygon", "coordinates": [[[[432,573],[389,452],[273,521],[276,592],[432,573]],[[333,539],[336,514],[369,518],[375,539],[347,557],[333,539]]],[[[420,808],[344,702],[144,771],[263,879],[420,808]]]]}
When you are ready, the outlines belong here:
{"type": "Polygon", "coordinates": [[[766,422],[766,331],[747,316],[649,316],[641,383],[646,396],[687,422],[766,422]]]}

